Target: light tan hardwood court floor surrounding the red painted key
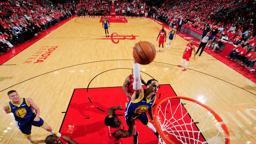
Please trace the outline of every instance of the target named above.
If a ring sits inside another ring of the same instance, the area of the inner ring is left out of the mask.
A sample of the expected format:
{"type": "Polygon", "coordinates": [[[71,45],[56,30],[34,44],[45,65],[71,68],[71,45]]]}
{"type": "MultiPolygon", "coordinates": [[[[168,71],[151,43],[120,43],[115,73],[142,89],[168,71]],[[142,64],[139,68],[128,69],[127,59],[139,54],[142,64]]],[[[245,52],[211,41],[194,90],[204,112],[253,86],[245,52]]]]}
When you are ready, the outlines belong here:
{"type": "MultiPolygon", "coordinates": [[[[122,86],[131,73],[135,42],[149,41],[158,47],[156,37],[161,25],[147,18],[127,20],[110,23],[110,35],[138,36],[135,40],[122,39],[115,44],[103,39],[100,17],[75,17],[23,50],[0,66],[0,104],[9,101],[9,90],[17,90],[21,97],[32,98],[41,110],[40,117],[58,131],[74,89],[87,88],[104,71],[90,88],[122,86]]],[[[176,65],[187,43],[176,35],[171,48],[157,53],[151,64],[141,65],[144,80],[152,76],[159,84],[170,84],[178,96],[199,100],[212,108],[229,128],[232,144],[255,143],[256,84],[205,52],[189,61],[187,71],[181,71],[176,65]]],[[[120,98],[125,99],[125,94],[120,98]]],[[[118,99],[114,101],[119,104],[118,99]]],[[[0,114],[0,143],[28,143],[16,128],[13,115],[3,110],[0,114]]],[[[32,128],[37,143],[43,143],[48,134],[32,128]]]]}

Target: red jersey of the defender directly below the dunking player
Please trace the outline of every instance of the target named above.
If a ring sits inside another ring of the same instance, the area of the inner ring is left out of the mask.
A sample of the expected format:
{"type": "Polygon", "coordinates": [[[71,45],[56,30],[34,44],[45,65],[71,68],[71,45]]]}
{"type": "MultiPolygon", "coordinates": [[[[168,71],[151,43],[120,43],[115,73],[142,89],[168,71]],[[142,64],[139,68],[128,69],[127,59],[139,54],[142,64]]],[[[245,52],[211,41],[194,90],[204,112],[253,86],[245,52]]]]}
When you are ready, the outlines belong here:
{"type": "Polygon", "coordinates": [[[118,128],[112,128],[110,126],[108,126],[108,144],[121,144],[121,139],[117,139],[113,136],[113,134],[119,130],[124,130],[124,125],[121,122],[120,126],[118,128]]]}

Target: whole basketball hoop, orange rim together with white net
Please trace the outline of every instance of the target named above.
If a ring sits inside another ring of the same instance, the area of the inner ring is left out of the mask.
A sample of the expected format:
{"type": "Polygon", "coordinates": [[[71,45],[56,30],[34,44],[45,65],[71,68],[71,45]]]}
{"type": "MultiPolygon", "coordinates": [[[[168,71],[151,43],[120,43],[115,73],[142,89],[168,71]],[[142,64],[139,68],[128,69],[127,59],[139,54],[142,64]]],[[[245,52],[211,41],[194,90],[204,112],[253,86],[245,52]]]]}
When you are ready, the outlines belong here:
{"type": "Polygon", "coordinates": [[[228,128],[208,106],[187,97],[159,102],[154,120],[159,144],[229,144],[228,128]]]}

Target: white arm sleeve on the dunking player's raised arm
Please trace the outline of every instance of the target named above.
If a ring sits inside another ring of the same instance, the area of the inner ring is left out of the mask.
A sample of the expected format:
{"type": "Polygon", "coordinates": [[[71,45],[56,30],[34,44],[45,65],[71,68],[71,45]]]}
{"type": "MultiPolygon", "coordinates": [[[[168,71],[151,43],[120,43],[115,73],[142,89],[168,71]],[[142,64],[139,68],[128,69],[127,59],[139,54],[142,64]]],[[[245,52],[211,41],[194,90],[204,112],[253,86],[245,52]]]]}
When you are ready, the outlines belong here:
{"type": "Polygon", "coordinates": [[[140,79],[140,64],[133,63],[133,89],[140,90],[141,89],[141,79],[140,79]]]}

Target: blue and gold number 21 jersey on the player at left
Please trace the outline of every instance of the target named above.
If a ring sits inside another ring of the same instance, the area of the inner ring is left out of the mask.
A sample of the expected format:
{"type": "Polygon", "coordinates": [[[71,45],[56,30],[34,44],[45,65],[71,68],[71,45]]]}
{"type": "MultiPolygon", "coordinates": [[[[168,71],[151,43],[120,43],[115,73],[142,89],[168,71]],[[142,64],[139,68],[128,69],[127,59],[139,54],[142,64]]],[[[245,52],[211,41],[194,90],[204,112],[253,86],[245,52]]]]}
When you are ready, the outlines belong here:
{"type": "Polygon", "coordinates": [[[22,98],[19,105],[14,104],[12,101],[8,103],[10,111],[13,113],[15,121],[22,122],[30,120],[34,115],[33,108],[27,102],[26,98],[22,98]]]}

